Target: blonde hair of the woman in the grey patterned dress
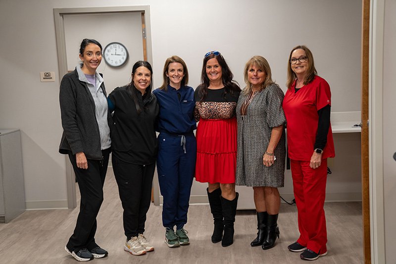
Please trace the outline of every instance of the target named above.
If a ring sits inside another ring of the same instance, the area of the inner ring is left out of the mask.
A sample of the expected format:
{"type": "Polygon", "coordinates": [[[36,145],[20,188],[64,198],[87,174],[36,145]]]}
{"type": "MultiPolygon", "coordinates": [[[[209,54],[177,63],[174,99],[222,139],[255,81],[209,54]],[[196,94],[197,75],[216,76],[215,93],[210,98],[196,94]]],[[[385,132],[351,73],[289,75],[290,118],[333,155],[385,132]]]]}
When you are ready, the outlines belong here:
{"type": "Polygon", "coordinates": [[[265,89],[265,87],[274,84],[274,81],[272,81],[271,77],[271,67],[269,66],[268,61],[263,57],[263,56],[252,56],[245,64],[245,69],[244,69],[244,77],[245,77],[245,83],[246,87],[242,91],[245,95],[250,93],[251,91],[251,83],[249,82],[249,78],[247,77],[247,71],[251,66],[256,66],[260,70],[265,72],[265,80],[263,84],[260,87],[260,90],[265,89]]]}

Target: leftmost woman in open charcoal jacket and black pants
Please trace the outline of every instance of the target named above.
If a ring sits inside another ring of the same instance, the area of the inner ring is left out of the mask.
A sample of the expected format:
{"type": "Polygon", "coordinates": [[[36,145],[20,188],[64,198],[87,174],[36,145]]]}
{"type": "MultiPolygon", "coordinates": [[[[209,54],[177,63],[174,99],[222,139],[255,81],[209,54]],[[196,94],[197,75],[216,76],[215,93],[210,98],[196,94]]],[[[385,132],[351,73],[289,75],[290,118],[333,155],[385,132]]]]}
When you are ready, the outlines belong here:
{"type": "Polygon", "coordinates": [[[84,39],[80,45],[81,63],[63,76],[59,91],[63,127],[59,152],[69,155],[81,194],[76,227],[65,250],[78,261],[107,256],[107,251],[95,243],[112,123],[103,79],[96,71],[101,51],[98,41],[84,39]]]}

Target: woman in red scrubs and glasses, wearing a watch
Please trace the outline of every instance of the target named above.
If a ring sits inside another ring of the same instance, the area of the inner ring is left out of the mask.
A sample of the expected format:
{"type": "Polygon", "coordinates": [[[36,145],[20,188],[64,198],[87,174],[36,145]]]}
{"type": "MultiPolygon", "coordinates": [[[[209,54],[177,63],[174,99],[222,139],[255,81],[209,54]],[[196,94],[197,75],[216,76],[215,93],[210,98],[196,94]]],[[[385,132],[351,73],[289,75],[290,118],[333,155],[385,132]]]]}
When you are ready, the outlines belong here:
{"type": "Polygon", "coordinates": [[[330,125],[330,86],[317,75],[311,51],[293,48],[288,61],[288,91],[283,100],[287,121],[288,154],[298,211],[297,241],[292,252],[303,260],[327,255],[327,158],[335,156],[330,125]]]}

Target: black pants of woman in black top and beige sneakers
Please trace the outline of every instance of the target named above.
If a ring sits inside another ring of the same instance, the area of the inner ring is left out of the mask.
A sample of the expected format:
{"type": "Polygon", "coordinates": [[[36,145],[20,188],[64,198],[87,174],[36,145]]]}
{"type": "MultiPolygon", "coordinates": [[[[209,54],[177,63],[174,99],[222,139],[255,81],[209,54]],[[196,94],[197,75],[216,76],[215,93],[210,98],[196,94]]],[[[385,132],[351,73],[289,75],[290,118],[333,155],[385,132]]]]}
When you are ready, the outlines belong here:
{"type": "Polygon", "coordinates": [[[132,164],[112,155],[111,162],[124,209],[124,232],[127,239],[145,232],[146,214],[151,202],[155,163],[132,164]]]}

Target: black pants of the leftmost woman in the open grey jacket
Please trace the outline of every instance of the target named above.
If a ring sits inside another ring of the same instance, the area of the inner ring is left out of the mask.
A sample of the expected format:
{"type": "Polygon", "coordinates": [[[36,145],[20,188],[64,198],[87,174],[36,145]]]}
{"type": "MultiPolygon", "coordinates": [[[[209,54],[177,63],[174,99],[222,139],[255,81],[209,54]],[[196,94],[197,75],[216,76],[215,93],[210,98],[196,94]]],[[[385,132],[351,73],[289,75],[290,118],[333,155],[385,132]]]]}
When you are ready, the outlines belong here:
{"type": "Polygon", "coordinates": [[[102,151],[102,160],[87,159],[88,169],[77,167],[76,156],[69,153],[81,194],[80,212],[73,235],[66,247],[71,251],[98,247],[95,243],[96,217],[103,202],[103,184],[106,177],[110,149],[102,151]]]}

